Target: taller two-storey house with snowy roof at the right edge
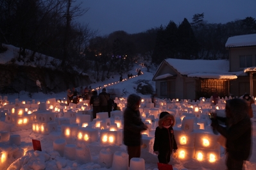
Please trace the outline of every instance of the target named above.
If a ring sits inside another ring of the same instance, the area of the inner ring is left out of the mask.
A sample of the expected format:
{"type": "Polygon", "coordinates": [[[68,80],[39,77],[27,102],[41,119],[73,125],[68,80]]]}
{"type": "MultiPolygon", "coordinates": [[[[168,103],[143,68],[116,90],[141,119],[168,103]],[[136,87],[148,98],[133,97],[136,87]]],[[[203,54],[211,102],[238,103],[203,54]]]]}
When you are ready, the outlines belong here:
{"type": "Polygon", "coordinates": [[[256,34],[239,35],[228,38],[225,45],[228,50],[230,72],[244,71],[230,82],[230,93],[235,96],[250,93],[256,96],[256,77],[253,75],[256,68],[256,34]]]}

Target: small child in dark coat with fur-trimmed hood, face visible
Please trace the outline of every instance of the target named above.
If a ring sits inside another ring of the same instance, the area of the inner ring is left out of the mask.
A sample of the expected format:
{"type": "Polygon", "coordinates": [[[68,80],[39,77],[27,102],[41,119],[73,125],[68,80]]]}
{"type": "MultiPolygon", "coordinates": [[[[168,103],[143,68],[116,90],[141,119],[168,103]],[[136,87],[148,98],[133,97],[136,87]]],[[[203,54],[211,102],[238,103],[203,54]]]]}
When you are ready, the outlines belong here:
{"type": "Polygon", "coordinates": [[[169,112],[161,112],[158,127],[155,129],[154,153],[158,156],[158,161],[162,164],[170,162],[171,153],[178,149],[175,135],[173,134],[175,118],[169,112]]]}

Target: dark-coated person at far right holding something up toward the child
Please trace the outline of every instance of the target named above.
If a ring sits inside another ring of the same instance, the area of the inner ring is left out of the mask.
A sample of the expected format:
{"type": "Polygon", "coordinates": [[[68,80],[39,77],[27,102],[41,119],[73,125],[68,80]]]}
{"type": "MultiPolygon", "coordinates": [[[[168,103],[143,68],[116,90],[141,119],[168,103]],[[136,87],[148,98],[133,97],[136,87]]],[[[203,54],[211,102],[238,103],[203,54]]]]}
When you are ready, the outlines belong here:
{"type": "Polygon", "coordinates": [[[248,105],[241,98],[226,100],[226,118],[216,116],[211,126],[226,138],[226,166],[228,170],[243,169],[244,160],[251,154],[252,122],[248,105]],[[218,120],[225,121],[226,127],[218,120]]]}

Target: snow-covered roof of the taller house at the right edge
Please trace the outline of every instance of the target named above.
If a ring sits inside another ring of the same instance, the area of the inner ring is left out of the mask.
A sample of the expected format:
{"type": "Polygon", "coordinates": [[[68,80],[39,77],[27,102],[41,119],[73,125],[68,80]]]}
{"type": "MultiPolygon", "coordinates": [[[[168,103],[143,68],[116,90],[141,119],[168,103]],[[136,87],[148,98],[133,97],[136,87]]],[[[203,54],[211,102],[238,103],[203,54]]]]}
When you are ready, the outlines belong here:
{"type": "Polygon", "coordinates": [[[256,45],[256,34],[238,35],[228,38],[225,47],[245,47],[256,45]]]}

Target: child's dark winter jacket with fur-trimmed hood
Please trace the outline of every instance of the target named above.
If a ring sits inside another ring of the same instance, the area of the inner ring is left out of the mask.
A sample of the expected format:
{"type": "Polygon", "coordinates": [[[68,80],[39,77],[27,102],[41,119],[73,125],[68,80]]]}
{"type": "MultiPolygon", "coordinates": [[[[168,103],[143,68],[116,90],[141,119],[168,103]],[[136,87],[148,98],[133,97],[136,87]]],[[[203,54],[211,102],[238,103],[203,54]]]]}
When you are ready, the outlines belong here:
{"type": "Polygon", "coordinates": [[[173,127],[165,128],[162,122],[167,118],[173,120],[173,125],[175,124],[175,118],[171,114],[167,114],[164,118],[158,121],[158,127],[155,130],[155,143],[153,145],[153,150],[159,153],[165,153],[166,151],[177,150],[177,144],[175,140],[175,135],[173,132],[173,127]]]}

